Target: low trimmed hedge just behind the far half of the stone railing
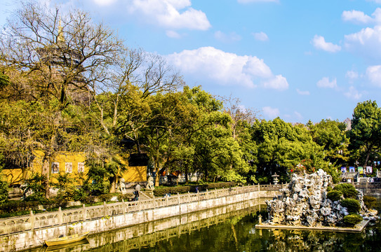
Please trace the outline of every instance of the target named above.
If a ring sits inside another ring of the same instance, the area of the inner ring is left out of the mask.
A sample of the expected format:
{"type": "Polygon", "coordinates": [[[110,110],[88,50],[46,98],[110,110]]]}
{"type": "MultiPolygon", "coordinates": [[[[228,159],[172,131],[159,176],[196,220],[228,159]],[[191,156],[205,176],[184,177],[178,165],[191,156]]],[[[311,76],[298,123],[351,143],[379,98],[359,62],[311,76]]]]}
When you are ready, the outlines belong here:
{"type": "Polygon", "coordinates": [[[196,193],[196,187],[199,188],[199,191],[220,189],[220,188],[232,188],[236,186],[236,182],[221,182],[221,183],[208,183],[203,185],[192,185],[192,186],[176,186],[168,188],[155,188],[154,195],[155,197],[163,197],[164,195],[177,195],[183,193],[196,193]]]}

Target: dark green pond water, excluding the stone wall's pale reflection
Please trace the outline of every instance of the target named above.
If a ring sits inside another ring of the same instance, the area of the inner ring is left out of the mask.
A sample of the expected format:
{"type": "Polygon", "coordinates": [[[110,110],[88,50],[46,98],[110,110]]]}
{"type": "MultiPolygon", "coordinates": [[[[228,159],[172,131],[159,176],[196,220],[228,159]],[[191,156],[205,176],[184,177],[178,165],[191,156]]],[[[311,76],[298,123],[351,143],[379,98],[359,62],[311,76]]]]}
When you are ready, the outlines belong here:
{"type": "Polygon", "coordinates": [[[360,234],[255,230],[256,216],[232,218],[132,251],[381,251],[381,225],[360,234]]]}

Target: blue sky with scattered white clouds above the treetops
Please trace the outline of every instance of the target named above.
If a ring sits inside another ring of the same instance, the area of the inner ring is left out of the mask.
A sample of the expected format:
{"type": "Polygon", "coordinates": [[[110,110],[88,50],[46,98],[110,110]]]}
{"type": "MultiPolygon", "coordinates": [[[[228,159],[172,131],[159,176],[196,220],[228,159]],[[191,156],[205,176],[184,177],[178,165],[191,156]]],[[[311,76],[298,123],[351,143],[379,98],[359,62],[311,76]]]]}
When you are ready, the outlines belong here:
{"type": "MultiPolygon", "coordinates": [[[[352,118],[381,99],[381,0],[39,0],[81,8],[130,48],[166,57],[187,85],[260,118],[352,118]]],[[[0,25],[15,9],[1,0],[0,25]]]]}

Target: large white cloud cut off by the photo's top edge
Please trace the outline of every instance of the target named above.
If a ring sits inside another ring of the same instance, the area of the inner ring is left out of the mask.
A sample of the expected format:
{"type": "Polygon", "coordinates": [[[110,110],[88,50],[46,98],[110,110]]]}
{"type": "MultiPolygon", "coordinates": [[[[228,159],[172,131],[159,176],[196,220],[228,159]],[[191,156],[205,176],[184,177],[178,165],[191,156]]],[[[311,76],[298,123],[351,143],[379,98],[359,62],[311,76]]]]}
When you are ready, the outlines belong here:
{"type": "Polygon", "coordinates": [[[169,29],[207,30],[206,14],[190,7],[190,0],[129,0],[128,11],[142,20],[169,29]],[[182,10],[182,11],[181,11],[182,10]]]}

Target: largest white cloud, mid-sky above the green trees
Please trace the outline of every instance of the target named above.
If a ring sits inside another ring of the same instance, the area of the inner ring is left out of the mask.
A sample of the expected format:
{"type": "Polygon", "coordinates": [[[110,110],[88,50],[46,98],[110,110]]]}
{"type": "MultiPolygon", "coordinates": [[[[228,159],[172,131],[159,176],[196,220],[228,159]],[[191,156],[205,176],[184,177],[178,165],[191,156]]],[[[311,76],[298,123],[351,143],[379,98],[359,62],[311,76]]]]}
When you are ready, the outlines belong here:
{"type": "Polygon", "coordinates": [[[182,73],[217,81],[221,85],[255,87],[260,84],[275,90],[288,87],[286,78],[274,76],[263,59],[255,56],[240,56],[213,47],[203,47],[175,52],[168,55],[168,61],[182,73]]]}

